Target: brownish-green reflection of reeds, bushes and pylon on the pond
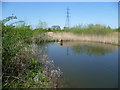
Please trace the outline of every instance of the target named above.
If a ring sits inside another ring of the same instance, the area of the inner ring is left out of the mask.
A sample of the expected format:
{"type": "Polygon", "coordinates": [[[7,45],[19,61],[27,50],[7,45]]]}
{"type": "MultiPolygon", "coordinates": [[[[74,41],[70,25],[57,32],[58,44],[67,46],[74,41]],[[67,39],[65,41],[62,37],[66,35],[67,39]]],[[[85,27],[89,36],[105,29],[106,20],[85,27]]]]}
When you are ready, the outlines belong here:
{"type": "MultiPolygon", "coordinates": [[[[113,52],[117,46],[103,44],[103,43],[90,43],[90,42],[64,42],[62,46],[71,46],[71,49],[78,54],[87,53],[88,55],[104,55],[105,53],[113,52]]],[[[67,47],[67,54],[69,49],[67,47]]]]}

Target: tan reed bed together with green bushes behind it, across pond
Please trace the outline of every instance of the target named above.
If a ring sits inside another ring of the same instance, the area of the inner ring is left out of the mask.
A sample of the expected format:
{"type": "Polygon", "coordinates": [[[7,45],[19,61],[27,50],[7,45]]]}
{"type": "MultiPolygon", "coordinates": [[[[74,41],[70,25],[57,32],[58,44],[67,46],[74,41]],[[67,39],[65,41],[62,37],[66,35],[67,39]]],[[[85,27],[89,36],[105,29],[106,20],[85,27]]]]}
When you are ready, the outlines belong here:
{"type": "Polygon", "coordinates": [[[54,40],[81,40],[93,41],[118,45],[119,29],[111,29],[100,24],[78,25],[65,30],[51,30],[48,33],[54,40]]]}

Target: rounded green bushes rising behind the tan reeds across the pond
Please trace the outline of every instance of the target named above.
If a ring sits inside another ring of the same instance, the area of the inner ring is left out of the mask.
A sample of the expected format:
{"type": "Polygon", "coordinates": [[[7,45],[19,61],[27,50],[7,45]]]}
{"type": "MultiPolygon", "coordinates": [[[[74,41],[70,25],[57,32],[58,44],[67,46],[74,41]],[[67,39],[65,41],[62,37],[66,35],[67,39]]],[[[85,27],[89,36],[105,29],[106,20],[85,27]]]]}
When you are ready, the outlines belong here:
{"type": "Polygon", "coordinates": [[[66,32],[72,32],[75,34],[88,34],[88,35],[105,35],[115,32],[116,30],[111,29],[109,26],[106,27],[100,24],[89,24],[89,25],[78,25],[67,30],[66,32]]]}

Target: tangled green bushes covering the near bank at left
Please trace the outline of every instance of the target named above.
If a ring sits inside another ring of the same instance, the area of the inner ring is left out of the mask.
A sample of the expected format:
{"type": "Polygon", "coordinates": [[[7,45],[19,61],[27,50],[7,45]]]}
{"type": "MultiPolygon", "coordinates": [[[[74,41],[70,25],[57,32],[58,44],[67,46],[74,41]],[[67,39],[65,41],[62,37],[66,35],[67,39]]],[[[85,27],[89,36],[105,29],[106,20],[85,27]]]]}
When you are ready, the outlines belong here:
{"type": "Polygon", "coordinates": [[[32,30],[24,23],[19,26],[6,25],[6,22],[13,19],[17,19],[17,17],[9,16],[1,21],[3,88],[49,87],[47,77],[41,74],[43,72],[42,63],[27,50],[32,48],[29,44],[38,30],[32,30]],[[40,76],[40,80],[37,82],[36,75],[40,76]]]}

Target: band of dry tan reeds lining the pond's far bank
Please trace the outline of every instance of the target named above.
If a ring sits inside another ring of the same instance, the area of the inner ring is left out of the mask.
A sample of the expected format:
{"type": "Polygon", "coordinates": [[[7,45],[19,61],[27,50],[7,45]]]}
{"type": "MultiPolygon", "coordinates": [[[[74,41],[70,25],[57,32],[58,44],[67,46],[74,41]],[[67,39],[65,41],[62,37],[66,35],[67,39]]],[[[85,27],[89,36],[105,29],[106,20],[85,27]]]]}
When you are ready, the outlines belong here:
{"type": "Polygon", "coordinates": [[[51,40],[92,41],[118,45],[118,33],[106,35],[77,35],[70,32],[47,32],[46,35],[48,35],[51,40]]]}

